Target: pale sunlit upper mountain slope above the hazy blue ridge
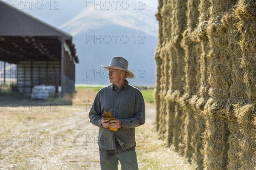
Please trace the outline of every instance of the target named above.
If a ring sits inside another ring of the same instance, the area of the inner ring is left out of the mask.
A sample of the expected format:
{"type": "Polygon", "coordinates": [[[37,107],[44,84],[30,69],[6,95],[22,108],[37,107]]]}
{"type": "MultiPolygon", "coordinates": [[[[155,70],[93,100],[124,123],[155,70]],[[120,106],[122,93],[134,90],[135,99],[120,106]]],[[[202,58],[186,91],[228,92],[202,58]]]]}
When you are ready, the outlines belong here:
{"type": "MultiPolygon", "coordinates": [[[[149,6],[142,6],[142,9],[134,9],[132,1],[127,2],[127,7],[124,5],[116,5],[112,8],[102,9],[100,6],[87,6],[76,17],[67,23],[64,23],[60,28],[69,31],[73,36],[81,34],[84,31],[96,28],[102,28],[107,25],[124,26],[131,29],[145,32],[145,34],[157,37],[157,21],[154,17],[154,9],[149,6]],[[125,9],[127,8],[127,9],[125,9]]],[[[136,7],[139,8],[139,7],[136,7]]]]}

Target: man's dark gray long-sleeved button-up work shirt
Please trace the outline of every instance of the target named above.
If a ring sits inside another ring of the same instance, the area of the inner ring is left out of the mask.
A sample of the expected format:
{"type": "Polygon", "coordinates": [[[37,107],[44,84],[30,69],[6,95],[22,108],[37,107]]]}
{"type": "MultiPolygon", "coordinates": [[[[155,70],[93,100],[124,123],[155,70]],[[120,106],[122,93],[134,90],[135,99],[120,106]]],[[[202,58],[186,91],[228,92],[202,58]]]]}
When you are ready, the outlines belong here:
{"type": "Polygon", "coordinates": [[[122,87],[115,88],[113,84],[102,88],[89,112],[90,122],[99,127],[99,147],[107,150],[116,149],[115,138],[123,149],[136,145],[135,127],[145,123],[145,103],[140,90],[129,85],[126,79],[122,87]],[[116,119],[120,119],[122,128],[113,131],[102,127],[100,118],[105,111],[111,111],[116,119]]]}

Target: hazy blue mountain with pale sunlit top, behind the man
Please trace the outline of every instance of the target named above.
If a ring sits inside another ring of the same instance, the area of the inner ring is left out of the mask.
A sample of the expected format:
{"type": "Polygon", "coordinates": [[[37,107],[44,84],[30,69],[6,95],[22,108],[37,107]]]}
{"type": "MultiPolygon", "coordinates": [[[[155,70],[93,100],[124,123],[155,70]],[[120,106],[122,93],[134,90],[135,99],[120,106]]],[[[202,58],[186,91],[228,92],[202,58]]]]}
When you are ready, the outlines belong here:
{"type": "Polygon", "coordinates": [[[135,74],[131,84],[154,85],[158,23],[154,9],[139,2],[125,1],[111,8],[87,4],[59,27],[73,35],[77,48],[76,83],[109,84],[108,71],[100,65],[109,65],[111,57],[122,56],[135,74]]]}

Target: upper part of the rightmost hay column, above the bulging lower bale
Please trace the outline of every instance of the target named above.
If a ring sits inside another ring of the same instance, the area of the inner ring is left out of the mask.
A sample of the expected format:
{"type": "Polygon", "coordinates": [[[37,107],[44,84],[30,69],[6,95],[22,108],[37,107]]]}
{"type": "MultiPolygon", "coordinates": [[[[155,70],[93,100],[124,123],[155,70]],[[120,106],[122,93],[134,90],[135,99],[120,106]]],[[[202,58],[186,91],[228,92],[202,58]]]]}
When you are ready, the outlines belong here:
{"type": "Polygon", "coordinates": [[[247,99],[256,101],[256,3],[255,0],[239,0],[235,10],[239,17],[236,24],[241,32],[239,45],[242,51],[241,67],[244,70],[247,99]]]}

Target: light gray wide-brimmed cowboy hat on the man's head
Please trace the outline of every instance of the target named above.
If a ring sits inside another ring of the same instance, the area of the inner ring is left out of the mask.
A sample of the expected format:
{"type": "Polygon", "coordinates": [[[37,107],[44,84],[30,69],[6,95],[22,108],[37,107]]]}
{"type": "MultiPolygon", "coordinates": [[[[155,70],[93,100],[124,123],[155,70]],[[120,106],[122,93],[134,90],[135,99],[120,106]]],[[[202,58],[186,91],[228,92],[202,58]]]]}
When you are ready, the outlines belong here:
{"type": "Polygon", "coordinates": [[[101,66],[106,69],[112,68],[112,69],[125,71],[128,73],[128,76],[127,76],[128,79],[134,78],[134,74],[128,70],[128,61],[123,57],[112,57],[109,66],[103,66],[103,65],[101,66]]]}

